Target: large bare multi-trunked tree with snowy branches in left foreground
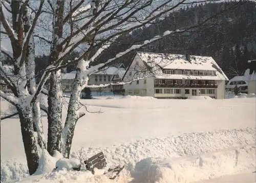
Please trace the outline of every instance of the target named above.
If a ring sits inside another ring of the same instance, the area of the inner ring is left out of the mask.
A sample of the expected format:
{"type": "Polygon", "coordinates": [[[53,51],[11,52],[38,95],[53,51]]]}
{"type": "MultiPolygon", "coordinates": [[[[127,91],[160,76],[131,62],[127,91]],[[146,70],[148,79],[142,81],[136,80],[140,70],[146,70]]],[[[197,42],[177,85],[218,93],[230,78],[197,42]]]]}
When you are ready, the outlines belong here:
{"type": "Polygon", "coordinates": [[[85,115],[83,111],[79,111],[80,93],[87,86],[90,75],[148,43],[170,34],[189,31],[198,25],[184,30],[166,31],[141,44],[133,45],[100,64],[95,64],[97,57],[110,45],[115,44],[120,36],[147,26],[156,19],[161,20],[168,12],[183,5],[198,2],[188,0],[1,1],[1,38],[6,36],[11,45],[11,49],[8,49],[5,44],[1,44],[1,52],[12,60],[13,66],[13,68],[5,68],[1,62],[1,80],[10,86],[13,95],[2,90],[0,94],[17,109],[31,175],[37,170],[44,149],[47,149],[50,155],[59,151],[64,157],[69,157],[76,123],[85,115]],[[46,52],[49,54],[48,66],[41,71],[42,77],[38,82],[35,81],[35,48],[38,46],[35,42],[40,44],[40,48],[43,44],[46,45],[46,52]],[[65,58],[74,51],[79,51],[80,55],[75,60],[64,62],[65,58]],[[61,69],[71,64],[77,65],[76,77],[67,117],[62,122],[61,69]],[[49,90],[46,90],[44,86],[48,79],[49,90]],[[42,93],[48,96],[48,107],[39,102],[42,93]],[[47,142],[42,130],[41,110],[48,113],[47,142]]]}

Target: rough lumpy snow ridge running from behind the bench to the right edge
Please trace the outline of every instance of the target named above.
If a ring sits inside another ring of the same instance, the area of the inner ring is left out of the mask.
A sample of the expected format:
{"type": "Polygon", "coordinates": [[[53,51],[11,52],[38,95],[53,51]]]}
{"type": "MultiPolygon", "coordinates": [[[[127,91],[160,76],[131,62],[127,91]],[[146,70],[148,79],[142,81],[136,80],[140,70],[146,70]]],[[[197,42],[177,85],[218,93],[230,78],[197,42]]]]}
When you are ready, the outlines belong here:
{"type": "MultiPolygon", "coordinates": [[[[84,159],[86,160],[102,151],[106,157],[108,168],[124,165],[125,170],[121,172],[121,177],[132,176],[137,179],[138,176],[141,176],[138,179],[140,181],[146,180],[150,176],[150,173],[146,173],[148,170],[144,170],[143,167],[152,167],[154,159],[192,156],[252,143],[255,143],[255,128],[246,128],[187,133],[170,138],[147,139],[107,148],[84,148],[83,153],[87,154],[84,159]],[[142,166],[141,170],[138,169],[138,166],[142,166]]],[[[78,155],[79,153],[75,152],[71,154],[75,158],[78,158],[78,155]]]]}

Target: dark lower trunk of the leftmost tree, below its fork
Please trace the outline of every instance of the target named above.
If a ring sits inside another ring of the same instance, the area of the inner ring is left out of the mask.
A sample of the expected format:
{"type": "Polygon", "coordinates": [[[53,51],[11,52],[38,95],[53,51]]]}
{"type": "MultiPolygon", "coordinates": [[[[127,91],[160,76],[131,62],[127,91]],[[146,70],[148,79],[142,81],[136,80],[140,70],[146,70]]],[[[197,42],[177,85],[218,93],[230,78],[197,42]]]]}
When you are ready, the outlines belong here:
{"type": "Polygon", "coordinates": [[[18,108],[20,127],[22,130],[22,140],[24,144],[25,154],[28,163],[29,174],[32,175],[38,168],[40,158],[37,139],[33,129],[33,113],[32,107],[18,108]]]}

